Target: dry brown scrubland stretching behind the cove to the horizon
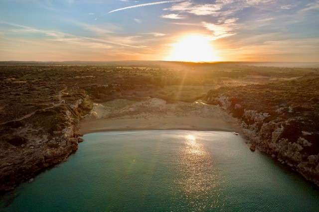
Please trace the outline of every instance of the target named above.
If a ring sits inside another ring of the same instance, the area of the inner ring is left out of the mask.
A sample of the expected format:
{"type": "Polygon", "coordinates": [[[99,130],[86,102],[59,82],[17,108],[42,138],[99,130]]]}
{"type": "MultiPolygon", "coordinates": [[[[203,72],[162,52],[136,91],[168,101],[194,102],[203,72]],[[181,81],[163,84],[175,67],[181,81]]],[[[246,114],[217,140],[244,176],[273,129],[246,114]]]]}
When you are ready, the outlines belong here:
{"type": "MultiPolygon", "coordinates": [[[[218,98],[226,97],[231,104],[228,110],[247,125],[255,123],[243,116],[245,110],[269,114],[257,124],[256,133],[266,122],[288,121],[282,136],[289,142],[297,142],[303,136],[313,143],[303,148],[307,152],[304,157],[318,155],[318,91],[319,69],[316,68],[232,63],[57,65],[6,62],[0,64],[0,160],[14,158],[14,154],[21,154],[25,148],[36,149],[32,136],[45,137],[37,148],[60,148],[63,142],[55,137],[62,136],[63,130],[71,125],[76,129],[79,118],[92,109],[94,102],[139,101],[150,97],[168,104],[210,98],[210,104],[220,105],[218,98]],[[24,128],[27,130],[23,131],[24,128]],[[311,133],[303,135],[303,132],[311,133]]],[[[271,133],[263,136],[268,139],[271,133]]],[[[2,172],[10,170],[9,166],[16,166],[3,164],[0,166],[2,172]]],[[[39,165],[39,169],[46,166],[39,165]]],[[[18,168],[15,171],[19,175],[25,172],[18,168]]]]}

